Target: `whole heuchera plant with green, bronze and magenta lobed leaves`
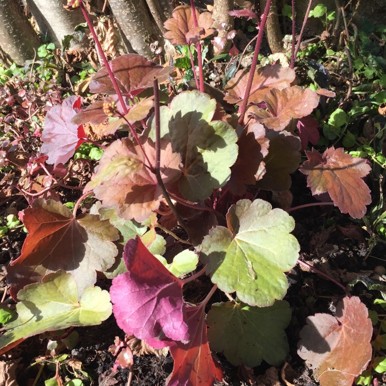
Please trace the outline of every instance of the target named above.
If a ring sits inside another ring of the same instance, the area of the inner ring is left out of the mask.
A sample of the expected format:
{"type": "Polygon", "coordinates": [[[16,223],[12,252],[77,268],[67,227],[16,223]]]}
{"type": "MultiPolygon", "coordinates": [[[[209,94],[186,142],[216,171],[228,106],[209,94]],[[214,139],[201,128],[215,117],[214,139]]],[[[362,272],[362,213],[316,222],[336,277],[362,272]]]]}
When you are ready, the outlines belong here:
{"type": "MultiPolygon", "coordinates": [[[[260,193],[286,194],[290,174],[299,169],[313,195],[360,218],[371,202],[363,181],[370,166],[334,147],[323,154],[306,151],[301,164],[301,152],[319,137],[310,114],[320,95],[334,93],[295,85],[290,67],[276,63],[256,69],[269,3],[254,64],[250,71],[237,72],[224,94],[202,92],[199,54],[197,90],[170,93],[161,106],[159,84],[168,82],[172,68],[128,54],[106,62],[94,75],[90,90],[105,95],[103,100],[80,111],[81,99],[71,96],[50,110],[42,136],[48,163],[66,163],[81,142],[89,141],[82,127],[87,122],[104,123],[99,135],[110,139],[115,133],[119,139],[104,149],[73,213],[44,199],[25,210],[29,235],[7,275],[17,315],[5,325],[0,352],[42,331],[101,323],[111,313],[110,296],[116,322],[128,337],[154,348],[170,347],[169,386],[221,380],[212,351],[234,365],[284,361],[284,329],[291,318],[282,300],[288,288],[285,272],[296,265],[300,246],[291,235],[293,218],[260,193]],[[141,92],[146,89],[153,94],[145,98],[141,92]],[[239,106],[237,119],[224,110],[224,101],[239,106]],[[92,193],[97,204],[90,214],[77,216],[79,203],[92,193]],[[179,245],[178,253],[165,258],[170,239],[179,245]],[[110,295],[94,286],[96,271],[113,278],[110,295]],[[212,286],[199,300],[185,299],[201,275],[212,286]],[[229,301],[212,304],[206,315],[218,291],[229,301]]],[[[214,31],[209,19],[194,7],[178,7],[165,23],[165,36],[201,52],[201,39],[214,31]]],[[[302,332],[306,349],[300,355],[322,384],[334,383],[333,378],[349,384],[371,357],[366,308],[357,298],[343,302],[347,307],[341,306],[340,317],[315,315],[302,332]],[[350,320],[358,312],[361,329],[366,328],[347,338],[346,329],[358,329],[359,322],[350,320]],[[333,350],[327,359],[312,355],[311,326],[323,330],[323,337],[335,331],[328,338],[333,350]],[[349,358],[345,363],[354,360],[352,346],[339,351],[341,336],[352,345],[360,339],[365,347],[348,369],[335,366],[342,355],[349,358]],[[327,360],[336,367],[334,376],[325,370],[327,360]]]]}

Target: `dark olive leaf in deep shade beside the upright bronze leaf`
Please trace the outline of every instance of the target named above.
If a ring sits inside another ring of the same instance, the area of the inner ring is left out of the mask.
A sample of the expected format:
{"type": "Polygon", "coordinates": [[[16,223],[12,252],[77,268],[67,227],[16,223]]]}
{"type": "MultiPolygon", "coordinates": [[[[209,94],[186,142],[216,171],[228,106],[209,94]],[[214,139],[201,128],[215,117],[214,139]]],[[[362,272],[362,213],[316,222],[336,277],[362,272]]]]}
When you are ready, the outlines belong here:
{"type": "Polygon", "coordinates": [[[270,130],[266,137],[269,139],[269,150],[264,159],[265,174],[262,179],[256,176],[256,186],[265,190],[289,190],[290,173],[297,170],[301,161],[300,140],[287,131],[270,130]]]}

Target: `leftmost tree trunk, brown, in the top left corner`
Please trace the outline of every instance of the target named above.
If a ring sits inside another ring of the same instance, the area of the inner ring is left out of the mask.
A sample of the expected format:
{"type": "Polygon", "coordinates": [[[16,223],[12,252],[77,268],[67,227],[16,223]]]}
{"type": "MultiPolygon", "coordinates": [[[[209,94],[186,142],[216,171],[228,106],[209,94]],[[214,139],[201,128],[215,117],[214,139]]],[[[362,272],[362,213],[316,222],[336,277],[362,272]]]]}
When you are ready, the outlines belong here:
{"type": "MultiPolygon", "coordinates": [[[[17,0],[0,0],[0,46],[16,64],[33,59],[41,42],[17,0]]],[[[0,60],[2,60],[0,58],[0,60]]]]}

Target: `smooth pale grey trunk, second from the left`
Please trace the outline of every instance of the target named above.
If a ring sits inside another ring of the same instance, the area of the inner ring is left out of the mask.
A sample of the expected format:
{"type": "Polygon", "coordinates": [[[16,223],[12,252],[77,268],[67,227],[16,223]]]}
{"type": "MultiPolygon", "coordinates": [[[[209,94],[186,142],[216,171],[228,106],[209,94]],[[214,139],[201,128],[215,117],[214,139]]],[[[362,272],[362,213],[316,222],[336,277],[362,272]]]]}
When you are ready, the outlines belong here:
{"type": "Polygon", "coordinates": [[[75,27],[85,21],[79,8],[67,11],[63,8],[66,4],[66,0],[27,0],[42,37],[48,36],[52,43],[61,48],[63,38],[72,35],[75,27]]]}

